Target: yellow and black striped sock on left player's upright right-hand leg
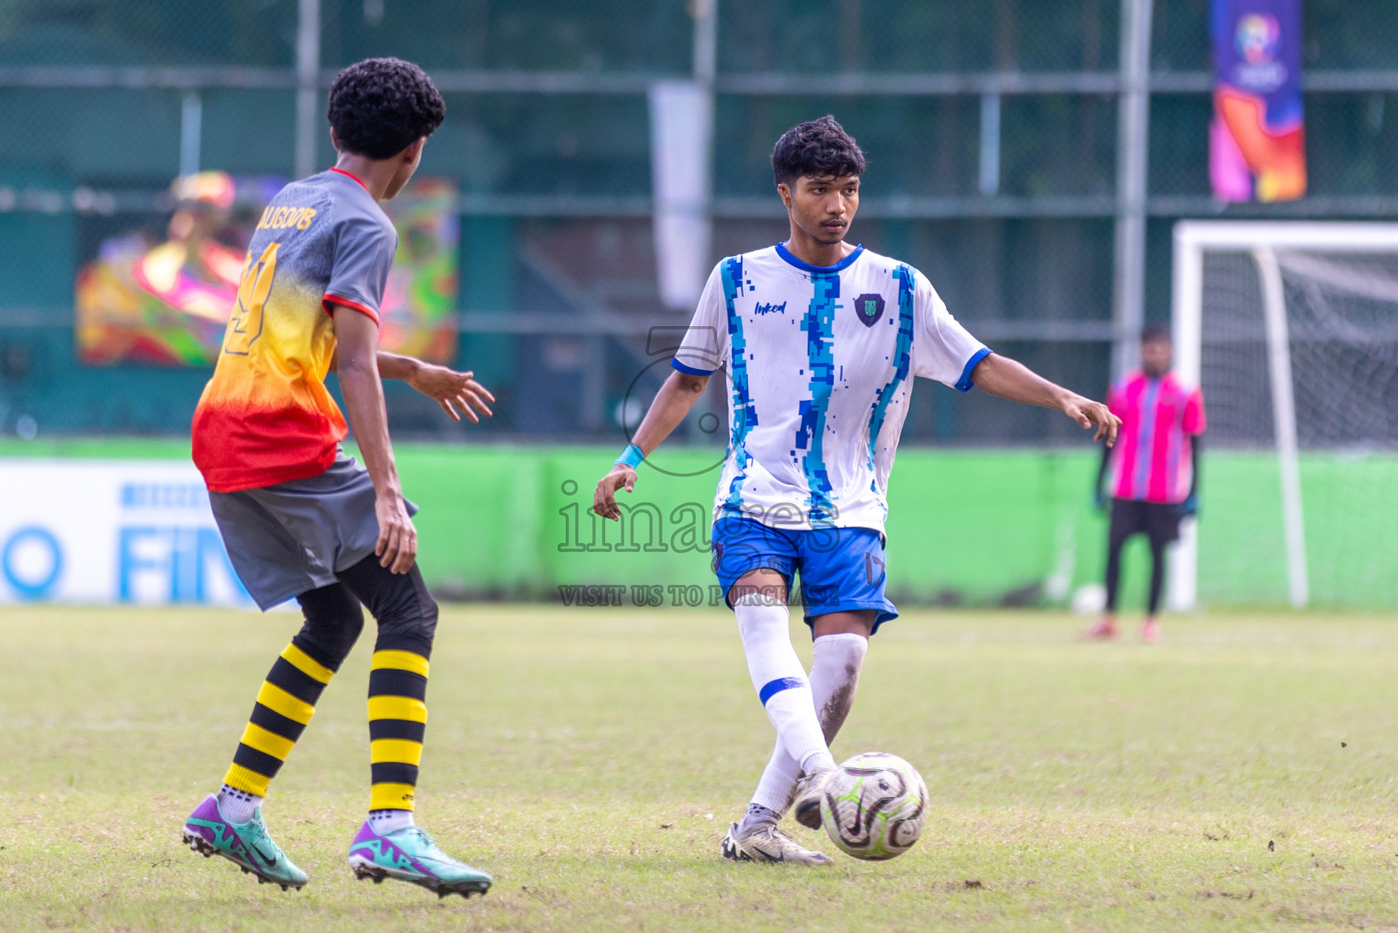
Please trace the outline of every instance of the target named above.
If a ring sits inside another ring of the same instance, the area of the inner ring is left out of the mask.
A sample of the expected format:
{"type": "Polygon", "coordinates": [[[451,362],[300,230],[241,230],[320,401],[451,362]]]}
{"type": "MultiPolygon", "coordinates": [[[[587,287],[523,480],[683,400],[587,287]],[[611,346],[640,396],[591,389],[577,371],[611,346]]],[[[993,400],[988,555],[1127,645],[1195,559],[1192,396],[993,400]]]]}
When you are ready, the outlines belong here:
{"type": "MultiPolygon", "coordinates": [[[[380,642],[382,644],[382,642],[380,642]]],[[[369,670],[370,810],[411,810],[428,722],[428,659],[376,649],[369,670]]]]}

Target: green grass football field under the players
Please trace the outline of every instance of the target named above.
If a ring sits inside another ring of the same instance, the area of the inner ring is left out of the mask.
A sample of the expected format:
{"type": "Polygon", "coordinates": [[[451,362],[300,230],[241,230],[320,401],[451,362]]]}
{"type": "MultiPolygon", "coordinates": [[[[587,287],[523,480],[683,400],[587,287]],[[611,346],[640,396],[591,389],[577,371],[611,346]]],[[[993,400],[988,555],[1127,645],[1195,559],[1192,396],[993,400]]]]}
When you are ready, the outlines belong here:
{"type": "Polygon", "coordinates": [[[295,616],[6,609],[0,929],[1398,929],[1391,617],[1169,620],[1155,648],[1081,624],[888,626],[835,751],[905,756],[934,816],[900,859],[801,870],[719,858],[770,749],[731,616],[447,608],[418,813],[496,887],[439,902],[343,862],[368,638],[273,785],[310,873],[284,894],[179,825],[295,616]]]}

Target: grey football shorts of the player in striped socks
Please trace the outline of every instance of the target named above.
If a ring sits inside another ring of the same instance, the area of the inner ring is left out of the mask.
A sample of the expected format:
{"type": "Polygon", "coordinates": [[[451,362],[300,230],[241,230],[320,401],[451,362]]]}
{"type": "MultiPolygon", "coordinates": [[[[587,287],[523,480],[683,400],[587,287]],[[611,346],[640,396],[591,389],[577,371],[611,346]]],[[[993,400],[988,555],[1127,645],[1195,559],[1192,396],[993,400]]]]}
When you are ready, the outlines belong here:
{"type": "Polygon", "coordinates": [[[264,612],[336,582],[379,541],[373,482],[344,454],[319,476],[210,493],[208,503],[238,578],[264,612]]]}

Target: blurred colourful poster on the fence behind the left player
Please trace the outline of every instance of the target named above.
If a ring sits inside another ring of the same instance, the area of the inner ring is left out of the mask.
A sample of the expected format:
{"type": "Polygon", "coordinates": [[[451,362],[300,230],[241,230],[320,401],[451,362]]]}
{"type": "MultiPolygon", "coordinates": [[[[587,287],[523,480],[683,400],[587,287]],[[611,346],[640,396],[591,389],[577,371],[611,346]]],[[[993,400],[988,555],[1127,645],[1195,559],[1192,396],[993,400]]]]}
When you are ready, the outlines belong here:
{"type": "MultiPolygon", "coordinates": [[[[98,239],[77,277],[77,355],[84,363],[208,366],[238,295],[247,242],[277,177],[226,172],[171,186],[164,229],[145,225],[98,239]]],[[[432,362],[456,355],[456,184],[419,179],[384,210],[398,253],[382,309],[380,345],[432,362]]],[[[94,237],[96,239],[96,237],[94,237]]]]}

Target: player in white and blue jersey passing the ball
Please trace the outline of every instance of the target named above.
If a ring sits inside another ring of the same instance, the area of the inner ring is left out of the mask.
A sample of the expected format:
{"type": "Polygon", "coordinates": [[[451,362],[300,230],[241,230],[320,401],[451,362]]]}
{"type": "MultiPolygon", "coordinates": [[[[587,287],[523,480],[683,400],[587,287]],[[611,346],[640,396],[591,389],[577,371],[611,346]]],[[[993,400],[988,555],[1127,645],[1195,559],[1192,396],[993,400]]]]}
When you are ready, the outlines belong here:
{"type": "Polygon", "coordinates": [[[864,154],[833,117],[788,130],[772,169],[790,239],[714,268],[675,372],[597,483],[593,508],[619,517],[617,492],[632,492],[644,457],[712,374],[727,370],[731,437],[714,496],[713,566],[777,742],[721,851],[738,862],[828,865],[777,823],[795,802],[798,823],[821,825],[829,743],[849,715],[870,636],[898,616],[884,594],[885,494],[911,377],[1055,408],[1107,444],[1120,422],[993,353],[913,267],[846,243],[864,154]],[[809,677],[788,634],[797,573],[815,640],[809,677]]]}

